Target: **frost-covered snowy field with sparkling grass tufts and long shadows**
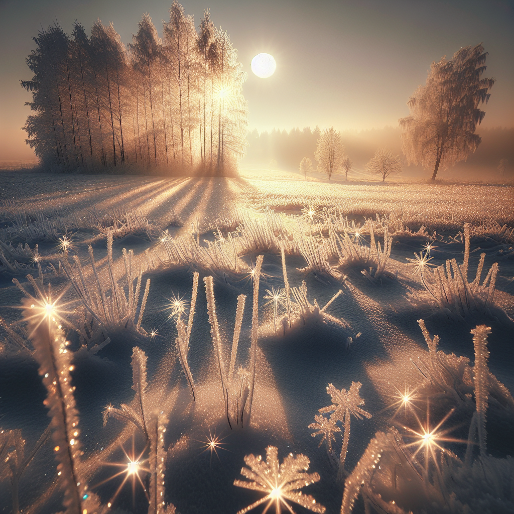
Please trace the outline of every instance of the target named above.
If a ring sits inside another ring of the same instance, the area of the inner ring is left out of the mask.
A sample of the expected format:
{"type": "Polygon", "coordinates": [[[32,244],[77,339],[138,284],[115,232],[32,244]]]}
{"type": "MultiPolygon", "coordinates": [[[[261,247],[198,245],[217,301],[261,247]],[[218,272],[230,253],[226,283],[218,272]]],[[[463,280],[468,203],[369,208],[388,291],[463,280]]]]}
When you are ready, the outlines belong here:
{"type": "Polygon", "coordinates": [[[0,512],[514,512],[511,186],[0,195],[0,512]]]}

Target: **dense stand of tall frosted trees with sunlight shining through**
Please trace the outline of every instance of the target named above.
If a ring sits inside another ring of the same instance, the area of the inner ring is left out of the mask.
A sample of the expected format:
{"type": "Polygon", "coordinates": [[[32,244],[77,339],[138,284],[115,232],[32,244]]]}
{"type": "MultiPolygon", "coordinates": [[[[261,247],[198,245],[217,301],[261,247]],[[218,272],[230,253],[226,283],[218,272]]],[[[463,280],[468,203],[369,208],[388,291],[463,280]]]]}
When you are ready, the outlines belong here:
{"type": "Polygon", "coordinates": [[[76,22],[33,38],[27,143],[44,167],[233,172],[245,155],[246,74],[206,11],[198,31],[175,2],[163,38],[148,14],[127,47],[113,24],[76,22]]]}

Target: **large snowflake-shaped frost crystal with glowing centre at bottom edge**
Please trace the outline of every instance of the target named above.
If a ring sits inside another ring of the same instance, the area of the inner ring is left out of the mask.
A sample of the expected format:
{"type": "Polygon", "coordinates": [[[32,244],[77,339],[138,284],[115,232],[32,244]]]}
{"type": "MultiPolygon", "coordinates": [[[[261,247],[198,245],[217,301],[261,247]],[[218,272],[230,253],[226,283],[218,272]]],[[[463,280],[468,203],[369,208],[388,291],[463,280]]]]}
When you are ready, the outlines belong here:
{"type": "Polygon", "coordinates": [[[310,461],[305,455],[293,456],[292,453],[289,453],[279,466],[278,450],[274,446],[266,448],[266,462],[263,462],[261,455],[256,457],[253,454],[246,455],[245,464],[250,469],[241,469],[241,474],[252,482],[234,480],[234,485],[267,494],[264,498],[238,511],[237,514],[245,514],[268,500],[263,514],[269,510],[273,503],[275,504],[276,514],[280,514],[282,511],[281,504],[284,504],[287,510],[294,514],[295,511],[292,510],[286,500],[297,503],[313,512],[323,514],[325,512],[323,505],[317,503],[309,494],[302,494],[302,491],[298,490],[320,480],[318,473],[309,474],[304,472],[309,468],[309,463],[310,461]]]}

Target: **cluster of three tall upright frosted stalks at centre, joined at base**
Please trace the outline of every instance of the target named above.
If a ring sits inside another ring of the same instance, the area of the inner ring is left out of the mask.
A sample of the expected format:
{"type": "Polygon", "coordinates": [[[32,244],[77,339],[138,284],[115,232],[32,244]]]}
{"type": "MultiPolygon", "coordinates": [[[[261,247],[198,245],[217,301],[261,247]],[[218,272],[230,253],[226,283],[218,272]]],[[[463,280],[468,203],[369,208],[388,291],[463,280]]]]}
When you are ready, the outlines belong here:
{"type": "Polygon", "coordinates": [[[234,335],[232,339],[232,351],[230,354],[230,364],[228,366],[224,361],[225,351],[223,348],[222,337],[219,333],[218,320],[216,315],[216,304],[214,300],[214,287],[212,277],[205,277],[205,288],[207,294],[207,308],[209,313],[209,323],[211,325],[211,337],[214,344],[214,352],[216,364],[221,382],[223,400],[225,403],[225,414],[229,427],[232,423],[243,427],[245,408],[247,409],[247,419],[250,422],[251,408],[253,401],[253,391],[255,387],[255,368],[257,341],[259,334],[259,282],[261,275],[263,256],[259,255],[254,268],[253,280],[253,311],[252,311],[252,331],[250,346],[250,362],[247,370],[242,369],[237,375],[241,377],[238,380],[234,377],[235,361],[237,356],[237,346],[241,334],[241,326],[243,323],[245,295],[237,297],[236,317],[234,324],[234,335]],[[232,420],[232,423],[231,423],[232,420]]]}

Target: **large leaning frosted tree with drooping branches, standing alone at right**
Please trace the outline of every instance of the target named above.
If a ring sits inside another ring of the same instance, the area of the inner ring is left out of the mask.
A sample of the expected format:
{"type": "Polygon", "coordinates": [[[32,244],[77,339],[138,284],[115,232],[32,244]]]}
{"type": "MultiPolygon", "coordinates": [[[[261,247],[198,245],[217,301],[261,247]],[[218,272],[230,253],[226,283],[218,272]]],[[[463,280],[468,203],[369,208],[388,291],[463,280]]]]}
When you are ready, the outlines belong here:
{"type": "Polygon", "coordinates": [[[494,79],[480,79],[488,52],[482,44],[458,50],[451,61],[442,58],[430,66],[427,84],[418,86],[407,105],[410,116],[399,120],[402,150],[410,164],[437,170],[465,160],[481,142],[475,134],[485,112],[494,79]]]}

